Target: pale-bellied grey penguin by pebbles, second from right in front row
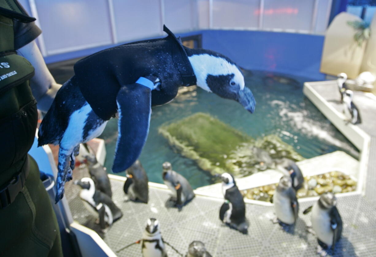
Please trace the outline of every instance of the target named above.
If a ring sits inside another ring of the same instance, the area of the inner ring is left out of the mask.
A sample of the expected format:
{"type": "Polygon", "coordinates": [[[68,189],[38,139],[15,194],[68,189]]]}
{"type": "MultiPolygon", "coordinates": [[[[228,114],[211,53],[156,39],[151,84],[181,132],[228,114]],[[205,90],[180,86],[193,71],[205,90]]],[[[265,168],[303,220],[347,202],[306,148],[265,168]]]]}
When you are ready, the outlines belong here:
{"type": "Polygon", "coordinates": [[[287,225],[296,223],[299,203],[290,176],[283,176],[279,180],[276,192],[273,195],[273,204],[278,221],[287,225]]]}

